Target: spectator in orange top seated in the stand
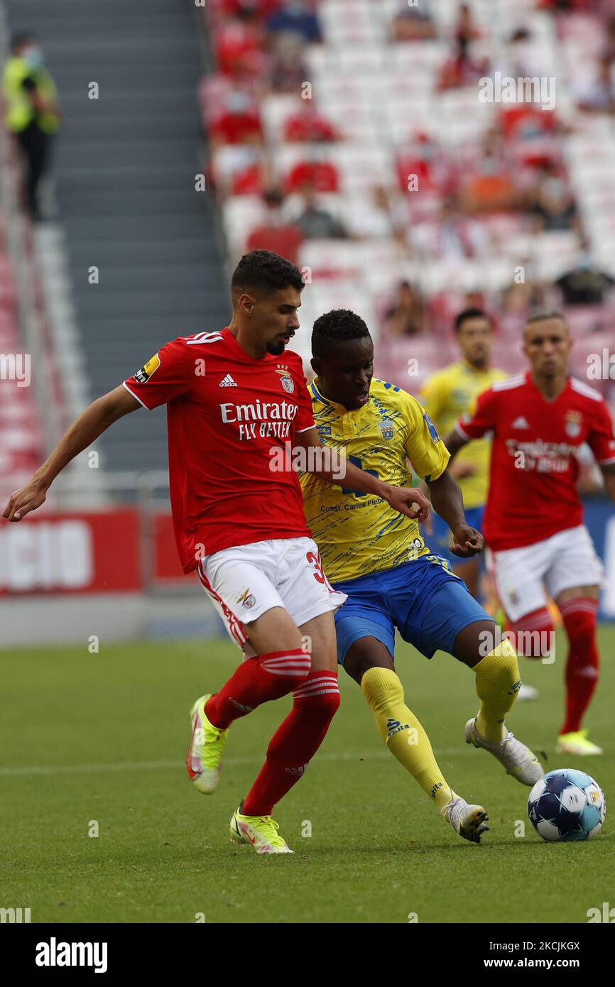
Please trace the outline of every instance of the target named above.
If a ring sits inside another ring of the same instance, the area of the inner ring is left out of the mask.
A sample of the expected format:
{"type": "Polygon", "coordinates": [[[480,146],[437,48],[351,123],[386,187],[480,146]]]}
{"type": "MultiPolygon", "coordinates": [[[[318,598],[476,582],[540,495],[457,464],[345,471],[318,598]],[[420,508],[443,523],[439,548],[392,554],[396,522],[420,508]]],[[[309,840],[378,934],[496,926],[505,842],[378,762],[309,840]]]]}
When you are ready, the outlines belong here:
{"type": "Polygon", "coordinates": [[[516,209],[519,194],[502,153],[500,136],[488,130],[481,155],[461,191],[461,206],[468,214],[516,209]]]}

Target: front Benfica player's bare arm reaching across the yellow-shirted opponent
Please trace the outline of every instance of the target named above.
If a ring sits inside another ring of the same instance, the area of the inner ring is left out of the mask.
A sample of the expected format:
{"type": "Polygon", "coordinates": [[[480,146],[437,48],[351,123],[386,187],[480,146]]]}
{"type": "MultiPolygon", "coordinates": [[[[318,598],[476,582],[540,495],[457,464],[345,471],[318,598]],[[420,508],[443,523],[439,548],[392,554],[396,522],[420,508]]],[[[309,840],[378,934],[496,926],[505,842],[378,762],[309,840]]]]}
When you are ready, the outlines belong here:
{"type": "Polygon", "coordinates": [[[374,493],[386,500],[391,507],[406,517],[424,521],[429,516],[429,500],[417,488],[392,487],[371,473],[348,462],[335,449],[322,445],[316,428],[299,432],[295,440],[305,449],[306,472],[324,480],[327,484],[346,487],[355,493],[374,493]]]}

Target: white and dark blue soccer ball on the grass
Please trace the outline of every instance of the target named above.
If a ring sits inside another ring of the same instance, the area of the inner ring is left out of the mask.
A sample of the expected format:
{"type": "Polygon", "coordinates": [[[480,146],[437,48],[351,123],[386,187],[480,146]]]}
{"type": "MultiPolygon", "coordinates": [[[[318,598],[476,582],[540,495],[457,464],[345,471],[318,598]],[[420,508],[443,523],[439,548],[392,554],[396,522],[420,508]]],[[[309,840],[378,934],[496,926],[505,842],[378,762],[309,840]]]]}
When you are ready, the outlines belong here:
{"type": "Polygon", "coordinates": [[[606,815],[604,793],[584,771],[559,768],[536,782],[527,814],[543,840],[592,840],[606,815]]]}

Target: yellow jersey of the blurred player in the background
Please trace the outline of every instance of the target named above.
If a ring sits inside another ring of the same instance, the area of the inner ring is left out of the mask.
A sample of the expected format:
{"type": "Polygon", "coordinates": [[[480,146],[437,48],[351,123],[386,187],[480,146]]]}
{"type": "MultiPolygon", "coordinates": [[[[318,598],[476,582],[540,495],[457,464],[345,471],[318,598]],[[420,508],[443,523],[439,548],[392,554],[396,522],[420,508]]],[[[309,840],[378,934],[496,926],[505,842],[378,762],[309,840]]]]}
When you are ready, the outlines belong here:
{"type": "MultiPolygon", "coordinates": [[[[472,410],[479,394],[494,381],[504,380],[507,376],[496,367],[477,370],[464,359],[451,363],[423,384],[421,398],[427,415],[442,435],[446,435],[465,412],[472,410]]],[[[468,463],[475,469],[471,477],[457,481],[467,508],[479,507],[487,500],[491,452],[491,439],[481,438],[470,442],[457,454],[457,463],[468,463]]]]}

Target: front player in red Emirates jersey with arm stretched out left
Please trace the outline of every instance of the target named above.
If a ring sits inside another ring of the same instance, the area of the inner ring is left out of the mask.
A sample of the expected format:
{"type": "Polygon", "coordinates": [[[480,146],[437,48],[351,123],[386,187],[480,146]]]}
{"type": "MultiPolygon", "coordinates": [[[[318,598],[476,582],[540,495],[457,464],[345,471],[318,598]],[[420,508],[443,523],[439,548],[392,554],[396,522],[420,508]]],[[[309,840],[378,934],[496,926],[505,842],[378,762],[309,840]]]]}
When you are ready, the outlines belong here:
{"type": "MultiPolygon", "coordinates": [[[[246,660],[215,695],[192,707],[187,765],[198,791],[217,786],[230,724],[292,692],[267,760],[231,819],[231,837],[257,853],[292,853],[271,819],[301,778],[340,704],[333,613],[344,603],[310,538],[296,472],[271,469],[271,452],[304,447],[310,469],[327,468],[314,429],[300,357],[285,347],[299,327],[300,271],[269,251],[236,267],[233,318],[220,332],[169,342],[123,385],[77,418],[3,516],[21,520],[53,479],[117,418],[166,404],[176,539],[185,572],[198,577],[246,660]]],[[[279,462],[277,462],[279,466],[279,462]]],[[[346,480],[410,517],[428,509],[418,491],[390,487],[345,463],[346,480]]]]}

